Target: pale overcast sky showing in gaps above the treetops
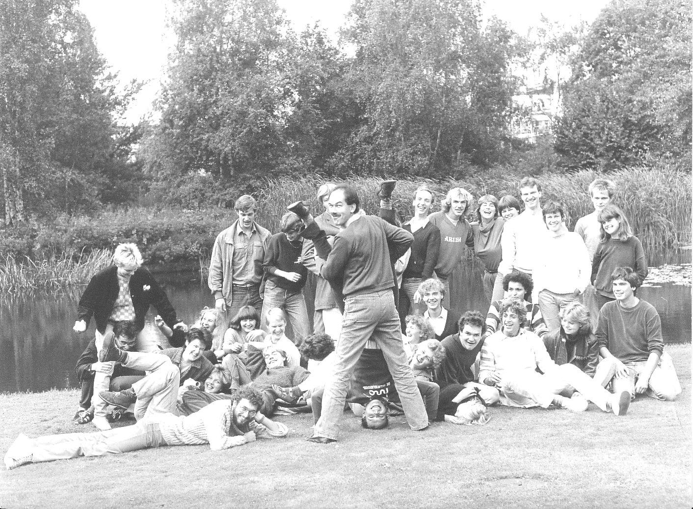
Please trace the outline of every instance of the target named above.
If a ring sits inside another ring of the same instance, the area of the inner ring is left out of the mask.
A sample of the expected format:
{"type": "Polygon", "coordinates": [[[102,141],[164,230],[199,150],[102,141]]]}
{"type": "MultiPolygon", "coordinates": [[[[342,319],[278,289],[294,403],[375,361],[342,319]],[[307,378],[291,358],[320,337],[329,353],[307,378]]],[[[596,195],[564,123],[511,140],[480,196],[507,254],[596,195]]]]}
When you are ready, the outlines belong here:
{"type": "MultiPolygon", "coordinates": [[[[292,24],[300,30],[306,24],[320,24],[336,33],[349,11],[351,0],[278,0],[292,24]]],[[[536,26],[541,15],[563,23],[591,23],[607,0],[487,0],[486,15],[495,15],[518,33],[536,26]]],[[[150,110],[159,89],[159,78],[166,64],[170,37],[166,36],[167,0],[80,0],[80,8],[91,26],[99,51],[117,71],[121,82],[132,78],[149,81],[128,115],[137,121],[150,110]]]]}

